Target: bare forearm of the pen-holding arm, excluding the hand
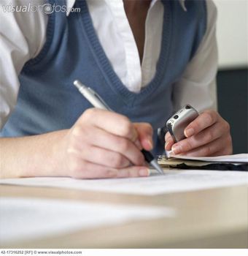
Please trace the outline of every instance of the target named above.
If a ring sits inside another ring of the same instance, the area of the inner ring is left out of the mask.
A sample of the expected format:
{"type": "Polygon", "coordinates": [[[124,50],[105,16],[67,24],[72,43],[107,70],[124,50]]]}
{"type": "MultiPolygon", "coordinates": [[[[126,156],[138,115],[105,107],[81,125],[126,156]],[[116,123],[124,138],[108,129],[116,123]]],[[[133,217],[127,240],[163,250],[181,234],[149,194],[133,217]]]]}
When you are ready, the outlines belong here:
{"type": "Polygon", "coordinates": [[[66,132],[0,138],[0,178],[66,176],[60,150],[66,132]]]}

